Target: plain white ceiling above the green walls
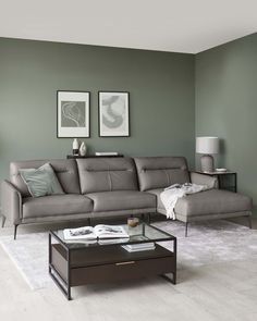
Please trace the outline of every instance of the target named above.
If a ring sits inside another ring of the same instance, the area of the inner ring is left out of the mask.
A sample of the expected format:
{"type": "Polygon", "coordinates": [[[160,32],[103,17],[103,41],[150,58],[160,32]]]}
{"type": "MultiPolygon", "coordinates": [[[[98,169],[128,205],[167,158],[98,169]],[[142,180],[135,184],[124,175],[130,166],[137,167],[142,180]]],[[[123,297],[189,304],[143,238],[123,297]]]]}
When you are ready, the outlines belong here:
{"type": "Polygon", "coordinates": [[[196,53],[257,32],[256,0],[0,0],[0,37],[196,53]]]}

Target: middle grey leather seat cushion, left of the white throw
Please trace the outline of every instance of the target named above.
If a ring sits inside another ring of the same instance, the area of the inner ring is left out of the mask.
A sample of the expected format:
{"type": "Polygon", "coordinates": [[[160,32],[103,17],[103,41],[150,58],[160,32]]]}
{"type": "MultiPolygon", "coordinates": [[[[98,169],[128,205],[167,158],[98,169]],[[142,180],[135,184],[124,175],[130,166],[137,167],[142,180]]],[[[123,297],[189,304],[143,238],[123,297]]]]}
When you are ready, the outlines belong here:
{"type": "Polygon", "coordinates": [[[138,190],[99,192],[86,196],[93,199],[96,212],[156,208],[156,196],[138,190]]]}

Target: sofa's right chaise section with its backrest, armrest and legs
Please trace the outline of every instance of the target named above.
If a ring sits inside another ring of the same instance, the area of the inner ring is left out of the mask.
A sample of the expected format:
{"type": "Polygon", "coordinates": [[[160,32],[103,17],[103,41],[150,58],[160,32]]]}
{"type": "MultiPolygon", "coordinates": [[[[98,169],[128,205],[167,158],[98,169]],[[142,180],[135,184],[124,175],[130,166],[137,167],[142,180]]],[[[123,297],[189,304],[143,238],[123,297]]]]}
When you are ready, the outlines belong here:
{"type": "MultiPolygon", "coordinates": [[[[217,178],[189,173],[187,163],[181,157],[135,158],[140,190],[157,197],[157,211],[166,214],[160,199],[163,188],[175,184],[196,183],[207,185],[208,190],[180,198],[175,205],[175,217],[185,222],[185,234],[189,222],[252,215],[252,199],[248,196],[217,189],[217,178]]],[[[249,220],[250,225],[250,220],[249,220]]]]}

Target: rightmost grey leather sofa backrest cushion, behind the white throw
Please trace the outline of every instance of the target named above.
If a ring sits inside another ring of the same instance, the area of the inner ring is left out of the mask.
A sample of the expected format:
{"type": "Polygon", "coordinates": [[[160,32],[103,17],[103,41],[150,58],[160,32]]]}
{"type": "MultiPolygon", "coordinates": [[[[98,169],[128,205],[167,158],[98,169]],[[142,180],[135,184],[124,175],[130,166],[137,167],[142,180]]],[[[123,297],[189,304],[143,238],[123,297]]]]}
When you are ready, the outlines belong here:
{"type": "Polygon", "coordinates": [[[175,183],[189,182],[184,157],[138,157],[134,160],[140,190],[166,188],[175,183]]]}

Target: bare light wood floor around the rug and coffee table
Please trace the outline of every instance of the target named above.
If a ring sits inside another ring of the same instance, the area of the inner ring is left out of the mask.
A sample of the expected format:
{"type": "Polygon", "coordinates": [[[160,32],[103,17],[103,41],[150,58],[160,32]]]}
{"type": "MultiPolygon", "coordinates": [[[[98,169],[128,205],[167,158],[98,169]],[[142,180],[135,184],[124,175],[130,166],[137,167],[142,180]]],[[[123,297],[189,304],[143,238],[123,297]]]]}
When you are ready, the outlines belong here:
{"type": "MultiPolygon", "coordinates": [[[[246,224],[243,219],[236,222],[246,224]]],[[[257,229],[257,220],[253,220],[257,229]]],[[[44,231],[21,226],[19,233],[44,231]]],[[[0,235],[11,234],[5,227],[0,235]]],[[[155,277],[77,287],[66,301],[53,285],[30,291],[0,247],[0,320],[256,321],[257,259],[179,271],[178,284],[155,277]]]]}

